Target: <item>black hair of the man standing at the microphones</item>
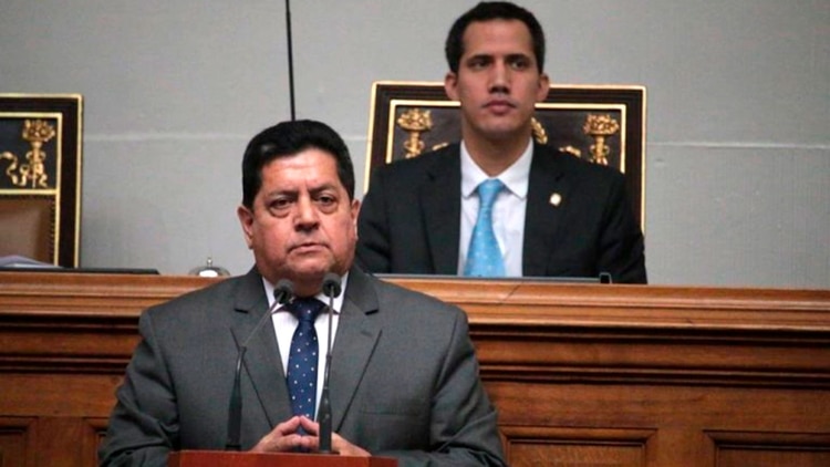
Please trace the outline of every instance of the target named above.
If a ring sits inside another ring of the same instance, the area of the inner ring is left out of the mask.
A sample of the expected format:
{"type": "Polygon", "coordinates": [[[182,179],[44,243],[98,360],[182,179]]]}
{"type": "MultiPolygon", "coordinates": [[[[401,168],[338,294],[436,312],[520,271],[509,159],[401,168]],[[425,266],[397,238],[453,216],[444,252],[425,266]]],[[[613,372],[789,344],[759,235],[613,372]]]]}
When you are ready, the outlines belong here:
{"type": "Polygon", "coordinates": [[[242,158],[242,205],[253,208],[262,188],[262,167],[278,157],[297,155],[309,148],[324,151],[338,163],[338,178],[354,199],[354,167],[343,138],[329,125],[311,120],[282,122],[263,129],[245,149],[242,158]]]}

